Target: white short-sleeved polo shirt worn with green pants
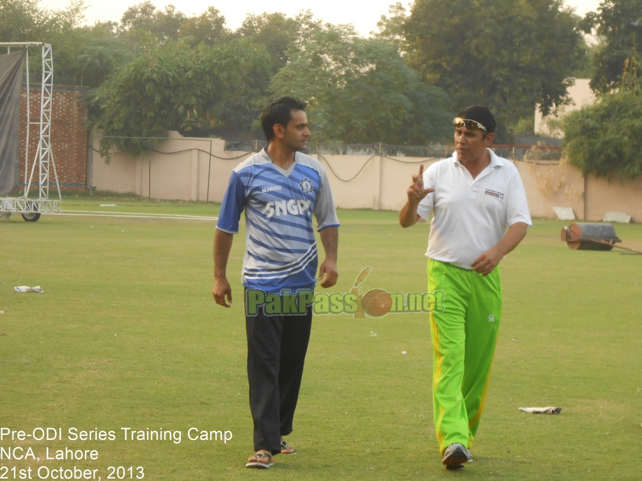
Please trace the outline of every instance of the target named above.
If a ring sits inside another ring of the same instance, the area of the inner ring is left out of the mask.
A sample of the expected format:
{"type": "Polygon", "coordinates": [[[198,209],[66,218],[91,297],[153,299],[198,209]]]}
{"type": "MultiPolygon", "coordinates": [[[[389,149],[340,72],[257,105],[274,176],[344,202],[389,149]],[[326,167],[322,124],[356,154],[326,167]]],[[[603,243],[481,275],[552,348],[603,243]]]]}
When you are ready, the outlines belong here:
{"type": "Polygon", "coordinates": [[[417,208],[425,221],[434,214],[426,257],[471,269],[481,253],[502,239],[508,226],[532,225],[517,168],[488,152],[490,164],[475,179],[457,159],[457,152],[423,173],[424,187],[434,187],[417,208]]]}

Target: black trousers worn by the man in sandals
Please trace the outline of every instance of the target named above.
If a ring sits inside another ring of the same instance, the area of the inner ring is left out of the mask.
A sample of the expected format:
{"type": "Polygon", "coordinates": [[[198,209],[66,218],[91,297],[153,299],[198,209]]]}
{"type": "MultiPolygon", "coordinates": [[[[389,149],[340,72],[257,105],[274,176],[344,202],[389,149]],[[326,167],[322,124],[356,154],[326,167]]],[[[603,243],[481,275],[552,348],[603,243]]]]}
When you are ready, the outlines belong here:
{"type": "Polygon", "coordinates": [[[292,432],[312,327],[312,306],[302,315],[245,317],[247,378],[254,421],[254,450],[281,452],[281,436],[292,432]]]}

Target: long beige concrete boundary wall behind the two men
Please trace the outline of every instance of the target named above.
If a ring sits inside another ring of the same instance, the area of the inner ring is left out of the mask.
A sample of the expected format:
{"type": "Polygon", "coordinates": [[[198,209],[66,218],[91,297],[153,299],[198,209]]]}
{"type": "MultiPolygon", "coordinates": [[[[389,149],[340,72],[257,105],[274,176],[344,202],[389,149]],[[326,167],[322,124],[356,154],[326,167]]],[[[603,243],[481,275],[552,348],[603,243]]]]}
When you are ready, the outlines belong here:
{"type": "MultiPolygon", "coordinates": [[[[155,199],[220,203],[230,173],[252,154],[226,152],[219,139],[194,139],[172,132],[152,152],[132,157],[97,154],[100,136],[93,136],[91,184],[100,190],[133,193],[155,199]],[[210,155],[211,152],[211,155],[210,155]]],[[[324,164],[336,205],[345,209],[398,210],[419,165],[438,159],[370,155],[313,155],[324,164]]],[[[609,183],[584,178],[563,163],[515,161],[522,175],[531,215],[555,218],[553,207],[572,207],[577,219],[599,221],[610,211],[626,212],[642,221],[642,179],[609,183]]]]}

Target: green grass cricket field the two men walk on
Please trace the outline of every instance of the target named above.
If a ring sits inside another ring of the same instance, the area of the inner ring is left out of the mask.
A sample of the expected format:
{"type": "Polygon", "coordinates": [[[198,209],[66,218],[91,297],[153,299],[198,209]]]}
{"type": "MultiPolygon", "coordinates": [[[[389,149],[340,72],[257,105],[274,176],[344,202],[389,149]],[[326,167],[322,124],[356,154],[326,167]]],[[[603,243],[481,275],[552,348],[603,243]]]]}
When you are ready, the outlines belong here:
{"type": "MultiPolygon", "coordinates": [[[[218,208],[63,200],[64,210],[215,216],[218,208]]],[[[395,212],[339,216],[332,292],[350,292],[368,265],[363,292],[425,292],[428,226],[403,230],[395,212]]],[[[30,467],[31,479],[41,479],[61,466],[97,469],[102,480],[109,466],[142,466],[146,480],[642,479],[642,256],[570,251],[559,240],[563,223],[548,220],[536,220],[501,264],[502,327],[475,460],[463,472],[440,464],[422,314],[315,317],[289,438],[299,454],[276,457],[266,472],[246,470],[244,237],[230,258],[234,303],[226,310],[211,294],[214,226],[96,216],[0,221],[0,428],[63,432],[52,441],[3,436],[0,466],[16,471],[0,470],[0,479],[30,467]],[[45,293],[14,292],[17,285],[45,293]],[[549,405],[561,415],[518,411],[549,405]],[[116,439],[71,441],[70,427],[111,430],[116,439]],[[124,441],[122,427],[179,430],[182,439],[124,441]],[[233,439],[190,441],[190,427],[233,439]],[[45,459],[47,448],[54,456],[65,447],[95,449],[98,459],[45,459]],[[36,459],[7,459],[9,448],[15,457],[31,448],[36,459]]],[[[642,250],[640,225],[616,230],[642,250]]],[[[124,478],[136,479],[132,473],[124,478]]]]}

